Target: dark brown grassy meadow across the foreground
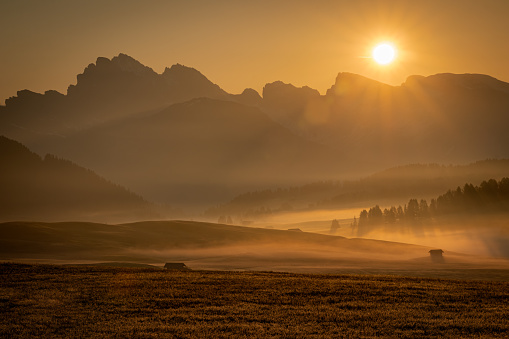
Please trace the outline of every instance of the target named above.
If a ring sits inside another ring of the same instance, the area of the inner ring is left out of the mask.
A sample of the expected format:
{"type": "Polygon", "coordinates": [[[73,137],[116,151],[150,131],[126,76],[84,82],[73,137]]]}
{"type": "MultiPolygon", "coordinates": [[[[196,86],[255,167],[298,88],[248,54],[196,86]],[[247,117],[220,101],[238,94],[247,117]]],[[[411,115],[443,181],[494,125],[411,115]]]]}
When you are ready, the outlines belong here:
{"type": "Polygon", "coordinates": [[[509,283],[0,264],[0,337],[507,337],[509,283]]]}

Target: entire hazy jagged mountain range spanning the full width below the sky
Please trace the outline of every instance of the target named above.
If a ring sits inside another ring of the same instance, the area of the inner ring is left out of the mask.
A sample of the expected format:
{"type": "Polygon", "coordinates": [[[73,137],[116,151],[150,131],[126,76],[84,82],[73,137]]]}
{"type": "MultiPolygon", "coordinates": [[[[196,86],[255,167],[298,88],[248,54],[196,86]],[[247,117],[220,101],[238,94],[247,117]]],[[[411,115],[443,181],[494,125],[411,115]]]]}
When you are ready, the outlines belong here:
{"type": "Polygon", "coordinates": [[[229,94],[179,64],[158,74],[100,57],[66,94],[7,99],[0,134],[186,206],[407,163],[509,158],[509,84],[486,75],[389,86],[340,73],[325,95],[280,81],[262,94],[229,94]]]}

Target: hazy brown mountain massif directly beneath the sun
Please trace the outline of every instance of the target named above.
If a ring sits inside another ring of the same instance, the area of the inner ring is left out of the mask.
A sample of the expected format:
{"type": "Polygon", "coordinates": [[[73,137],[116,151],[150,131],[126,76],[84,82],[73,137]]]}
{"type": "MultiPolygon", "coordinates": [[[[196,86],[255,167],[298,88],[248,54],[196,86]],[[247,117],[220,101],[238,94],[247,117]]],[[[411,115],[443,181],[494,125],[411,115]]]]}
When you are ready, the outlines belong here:
{"type": "Polygon", "coordinates": [[[509,84],[487,75],[411,76],[389,86],[340,73],[325,95],[276,82],[263,98],[295,133],[375,168],[509,157],[509,84]]]}

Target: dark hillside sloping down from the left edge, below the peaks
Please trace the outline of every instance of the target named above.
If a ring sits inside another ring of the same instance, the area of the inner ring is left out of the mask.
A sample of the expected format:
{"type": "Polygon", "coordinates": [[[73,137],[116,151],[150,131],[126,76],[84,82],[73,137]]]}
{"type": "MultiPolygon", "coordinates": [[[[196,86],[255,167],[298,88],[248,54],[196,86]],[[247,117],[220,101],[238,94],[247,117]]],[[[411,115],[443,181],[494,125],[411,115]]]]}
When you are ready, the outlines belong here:
{"type": "Polygon", "coordinates": [[[104,220],[154,218],[140,196],[94,172],[52,155],[41,158],[0,136],[0,220],[104,220]]]}

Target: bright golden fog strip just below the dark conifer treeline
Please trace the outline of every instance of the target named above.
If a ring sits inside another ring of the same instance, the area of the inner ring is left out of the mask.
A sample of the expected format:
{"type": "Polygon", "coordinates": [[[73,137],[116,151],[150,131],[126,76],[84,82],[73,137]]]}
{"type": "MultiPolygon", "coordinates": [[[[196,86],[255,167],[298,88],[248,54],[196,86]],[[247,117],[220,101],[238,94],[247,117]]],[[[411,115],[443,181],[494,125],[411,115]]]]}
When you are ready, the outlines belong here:
{"type": "Polygon", "coordinates": [[[441,248],[472,255],[509,258],[509,216],[465,216],[442,218],[433,222],[368,225],[352,227],[353,216],[361,209],[318,210],[275,214],[255,226],[276,229],[299,228],[302,231],[334,234],[441,248]],[[332,220],[340,228],[331,232],[332,220]]]}

